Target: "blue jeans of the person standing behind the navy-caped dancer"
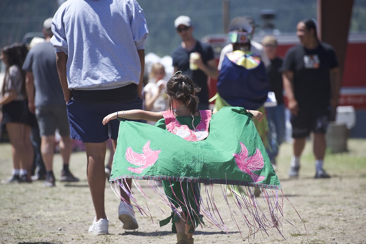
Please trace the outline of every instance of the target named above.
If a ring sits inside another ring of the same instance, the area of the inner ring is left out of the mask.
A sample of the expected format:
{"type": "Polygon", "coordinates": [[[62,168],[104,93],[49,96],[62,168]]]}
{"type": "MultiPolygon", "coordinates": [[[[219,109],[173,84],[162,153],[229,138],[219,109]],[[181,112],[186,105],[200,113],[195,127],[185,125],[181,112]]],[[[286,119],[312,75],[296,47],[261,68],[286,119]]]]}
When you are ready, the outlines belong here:
{"type": "Polygon", "coordinates": [[[270,144],[272,150],[268,150],[270,159],[277,156],[279,146],[285,137],[285,105],[279,104],[275,107],[266,108],[267,119],[269,123],[270,144]]]}

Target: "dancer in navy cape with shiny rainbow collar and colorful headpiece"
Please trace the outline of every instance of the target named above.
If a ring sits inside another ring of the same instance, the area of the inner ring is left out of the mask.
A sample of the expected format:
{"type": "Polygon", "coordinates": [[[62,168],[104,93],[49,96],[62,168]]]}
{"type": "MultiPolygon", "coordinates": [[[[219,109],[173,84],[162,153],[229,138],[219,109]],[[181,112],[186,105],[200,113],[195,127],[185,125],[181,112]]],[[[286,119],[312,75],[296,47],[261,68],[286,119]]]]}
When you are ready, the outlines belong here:
{"type": "MultiPolygon", "coordinates": [[[[270,133],[264,108],[269,80],[262,56],[252,51],[253,31],[253,26],[245,17],[238,16],[230,22],[228,38],[231,48],[221,50],[223,60],[217,79],[214,111],[223,106],[239,106],[263,113],[262,123],[254,120],[254,124],[272,163],[274,156],[269,144],[270,133]],[[227,50],[231,52],[226,53],[227,50]]],[[[235,190],[240,192],[242,187],[235,187],[235,190]]],[[[254,187],[252,194],[258,196],[260,193],[260,189],[254,187]]]]}

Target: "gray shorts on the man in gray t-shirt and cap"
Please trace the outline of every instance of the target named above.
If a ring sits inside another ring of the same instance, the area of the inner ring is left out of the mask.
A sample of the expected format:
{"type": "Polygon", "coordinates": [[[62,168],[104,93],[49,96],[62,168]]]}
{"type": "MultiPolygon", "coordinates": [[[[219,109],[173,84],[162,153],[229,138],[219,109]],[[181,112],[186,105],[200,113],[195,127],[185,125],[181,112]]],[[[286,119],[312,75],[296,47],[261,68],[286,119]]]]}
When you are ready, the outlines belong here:
{"type": "Polygon", "coordinates": [[[40,136],[55,135],[56,129],[59,129],[61,136],[70,135],[66,104],[37,107],[36,117],[40,127],[40,136]]]}

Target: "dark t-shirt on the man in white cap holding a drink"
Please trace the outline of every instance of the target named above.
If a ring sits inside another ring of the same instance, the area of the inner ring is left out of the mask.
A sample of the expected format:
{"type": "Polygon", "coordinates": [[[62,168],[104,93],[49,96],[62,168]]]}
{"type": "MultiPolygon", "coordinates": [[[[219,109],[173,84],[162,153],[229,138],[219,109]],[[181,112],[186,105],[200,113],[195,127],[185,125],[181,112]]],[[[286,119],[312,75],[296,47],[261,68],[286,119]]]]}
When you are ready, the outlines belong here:
{"type": "Polygon", "coordinates": [[[178,48],[173,50],[173,66],[178,67],[178,70],[181,70],[183,74],[192,75],[193,82],[201,87],[201,91],[197,93],[200,104],[209,104],[207,75],[201,70],[190,70],[189,55],[191,52],[201,53],[203,63],[205,64],[207,64],[208,61],[214,59],[211,46],[197,41],[196,46],[190,52],[182,48],[182,46],[179,46],[178,48]]]}

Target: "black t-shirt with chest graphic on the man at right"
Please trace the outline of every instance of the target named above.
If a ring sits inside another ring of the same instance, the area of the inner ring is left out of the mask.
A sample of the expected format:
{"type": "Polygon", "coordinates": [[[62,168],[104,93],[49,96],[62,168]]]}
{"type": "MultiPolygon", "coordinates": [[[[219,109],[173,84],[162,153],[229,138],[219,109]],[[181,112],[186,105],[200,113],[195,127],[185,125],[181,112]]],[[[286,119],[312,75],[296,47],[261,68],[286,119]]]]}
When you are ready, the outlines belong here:
{"type": "Polygon", "coordinates": [[[294,72],[295,98],[300,108],[329,106],[329,70],[337,66],[334,49],[325,43],[313,50],[302,45],[288,50],[282,70],[294,72]]]}

